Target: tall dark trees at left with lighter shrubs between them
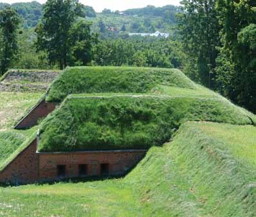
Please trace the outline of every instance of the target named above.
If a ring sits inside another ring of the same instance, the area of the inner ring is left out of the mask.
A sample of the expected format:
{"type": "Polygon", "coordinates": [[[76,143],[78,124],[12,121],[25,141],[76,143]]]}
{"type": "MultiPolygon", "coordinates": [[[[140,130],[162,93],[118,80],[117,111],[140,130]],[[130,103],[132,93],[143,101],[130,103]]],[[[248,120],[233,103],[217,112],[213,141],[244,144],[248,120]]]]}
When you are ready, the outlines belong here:
{"type": "Polygon", "coordinates": [[[41,22],[27,35],[20,29],[17,10],[5,6],[0,11],[0,74],[13,65],[64,69],[90,62],[97,37],[84,17],[84,6],[77,0],[49,0],[41,22]]]}

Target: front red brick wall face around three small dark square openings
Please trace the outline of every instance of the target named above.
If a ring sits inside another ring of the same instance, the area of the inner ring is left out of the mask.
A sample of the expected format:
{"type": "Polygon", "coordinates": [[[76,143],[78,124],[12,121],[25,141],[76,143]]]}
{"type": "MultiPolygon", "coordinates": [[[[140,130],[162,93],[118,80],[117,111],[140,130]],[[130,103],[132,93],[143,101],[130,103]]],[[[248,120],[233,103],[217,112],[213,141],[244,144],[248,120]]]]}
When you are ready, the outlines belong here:
{"type": "Polygon", "coordinates": [[[78,165],[87,164],[87,176],[100,174],[100,164],[109,164],[109,175],[123,175],[144,157],[145,150],[39,153],[39,177],[57,178],[57,165],[66,165],[66,178],[79,177],[78,165]]]}

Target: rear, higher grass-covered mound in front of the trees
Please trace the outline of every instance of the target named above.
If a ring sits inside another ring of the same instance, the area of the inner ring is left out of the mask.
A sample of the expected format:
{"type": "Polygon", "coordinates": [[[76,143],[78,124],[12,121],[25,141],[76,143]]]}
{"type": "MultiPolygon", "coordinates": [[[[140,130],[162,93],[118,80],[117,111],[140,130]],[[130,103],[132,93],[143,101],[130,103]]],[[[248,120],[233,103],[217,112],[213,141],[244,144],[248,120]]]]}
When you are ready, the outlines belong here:
{"type": "Polygon", "coordinates": [[[178,69],[144,67],[68,67],[51,84],[47,101],[60,102],[69,94],[149,92],[156,85],[194,89],[196,84],[178,69]]]}

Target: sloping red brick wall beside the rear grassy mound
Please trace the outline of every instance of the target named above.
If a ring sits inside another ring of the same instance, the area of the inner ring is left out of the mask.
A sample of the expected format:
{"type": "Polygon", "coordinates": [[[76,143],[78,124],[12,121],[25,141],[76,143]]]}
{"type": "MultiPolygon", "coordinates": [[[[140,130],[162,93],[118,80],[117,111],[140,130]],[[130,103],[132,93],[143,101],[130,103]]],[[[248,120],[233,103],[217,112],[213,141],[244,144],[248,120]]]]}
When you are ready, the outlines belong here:
{"type": "Polygon", "coordinates": [[[46,117],[55,109],[54,103],[46,103],[45,100],[42,100],[37,107],[33,108],[33,110],[28,114],[28,116],[24,117],[20,123],[15,126],[15,129],[24,129],[30,128],[37,124],[37,121],[41,117],[46,117]]]}

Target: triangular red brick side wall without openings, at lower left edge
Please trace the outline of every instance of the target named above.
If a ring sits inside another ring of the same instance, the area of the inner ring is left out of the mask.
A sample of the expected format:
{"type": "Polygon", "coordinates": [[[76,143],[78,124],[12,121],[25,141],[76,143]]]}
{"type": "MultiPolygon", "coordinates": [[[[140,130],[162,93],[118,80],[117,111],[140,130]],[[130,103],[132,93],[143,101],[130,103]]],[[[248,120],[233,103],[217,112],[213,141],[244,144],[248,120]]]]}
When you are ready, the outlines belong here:
{"type": "Polygon", "coordinates": [[[0,172],[0,182],[25,184],[38,178],[37,142],[34,140],[23,152],[0,172]]]}

